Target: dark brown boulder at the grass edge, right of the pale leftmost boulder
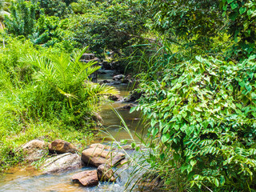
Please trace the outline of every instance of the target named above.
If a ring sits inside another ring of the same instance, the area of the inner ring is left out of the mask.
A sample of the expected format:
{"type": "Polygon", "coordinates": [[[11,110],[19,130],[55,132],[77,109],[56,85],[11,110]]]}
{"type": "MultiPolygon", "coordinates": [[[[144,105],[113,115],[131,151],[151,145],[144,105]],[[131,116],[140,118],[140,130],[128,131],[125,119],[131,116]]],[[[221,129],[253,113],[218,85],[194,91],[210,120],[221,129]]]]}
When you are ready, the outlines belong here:
{"type": "Polygon", "coordinates": [[[55,141],[51,142],[49,145],[49,150],[51,153],[57,154],[74,154],[77,151],[74,145],[72,145],[70,142],[65,142],[61,139],[56,139],[55,141]]]}

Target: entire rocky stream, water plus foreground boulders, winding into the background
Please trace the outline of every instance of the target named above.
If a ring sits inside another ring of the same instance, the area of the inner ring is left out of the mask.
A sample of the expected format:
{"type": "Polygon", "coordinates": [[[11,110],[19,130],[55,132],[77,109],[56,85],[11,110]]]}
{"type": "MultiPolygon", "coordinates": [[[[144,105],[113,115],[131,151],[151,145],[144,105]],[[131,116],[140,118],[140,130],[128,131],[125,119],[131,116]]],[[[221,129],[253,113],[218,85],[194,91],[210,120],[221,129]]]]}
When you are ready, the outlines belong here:
{"type": "MultiPolygon", "coordinates": [[[[134,106],[133,97],[127,97],[130,86],[123,75],[114,77],[114,70],[101,70],[98,82],[115,86],[121,94],[110,98],[112,106],[119,111],[130,132],[139,132],[140,118],[138,113],[129,113],[134,106]],[[121,77],[122,76],[122,77],[121,77]]],[[[120,130],[121,120],[110,109],[108,103],[102,106],[100,114],[103,125],[108,127],[117,142],[129,139],[130,134],[120,130]]],[[[102,138],[108,135],[102,134],[102,138]]],[[[134,136],[134,134],[133,134],[134,136]]],[[[55,140],[46,143],[33,140],[22,146],[26,161],[33,166],[13,167],[0,175],[0,192],[3,191],[126,191],[126,182],[134,171],[130,157],[136,154],[130,146],[119,146],[113,143],[96,143],[77,149],[72,143],[55,140]],[[35,169],[37,167],[38,169],[35,169]]],[[[138,181],[142,174],[134,177],[138,181]]],[[[133,186],[131,183],[130,186],[133,186]]],[[[134,187],[132,191],[141,191],[134,187]]]]}

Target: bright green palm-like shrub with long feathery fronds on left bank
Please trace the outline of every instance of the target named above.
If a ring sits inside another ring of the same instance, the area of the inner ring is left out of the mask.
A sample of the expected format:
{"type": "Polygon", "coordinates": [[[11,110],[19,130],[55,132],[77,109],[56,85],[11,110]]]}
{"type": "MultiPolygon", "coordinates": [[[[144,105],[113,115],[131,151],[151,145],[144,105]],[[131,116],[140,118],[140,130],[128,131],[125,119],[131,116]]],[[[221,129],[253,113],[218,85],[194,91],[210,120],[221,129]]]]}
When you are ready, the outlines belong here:
{"type": "Polygon", "coordinates": [[[79,61],[87,48],[74,52],[72,57],[61,52],[46,56],[29,54],[20,59],[34,69],[33,81],[26,91],[30,99],[23,101],[29,117],[54,115],[65,122],[84,125],[86,119],[91,119],[102,95],[118,94],[113,87],[89,82],[90,74],[100,66],[92,61],[79,61]]]}

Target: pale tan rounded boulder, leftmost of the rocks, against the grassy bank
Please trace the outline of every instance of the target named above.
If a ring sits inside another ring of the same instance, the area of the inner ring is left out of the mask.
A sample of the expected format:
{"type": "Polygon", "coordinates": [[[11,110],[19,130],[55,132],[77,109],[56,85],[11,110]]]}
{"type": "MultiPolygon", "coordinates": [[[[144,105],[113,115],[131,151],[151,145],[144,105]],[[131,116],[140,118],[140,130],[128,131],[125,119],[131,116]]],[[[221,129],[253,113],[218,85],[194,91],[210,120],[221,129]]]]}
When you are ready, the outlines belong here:
{"type": "Polygon", "coordinates": [[[48,146],[46,142],[35,139],[23,145],[22,151],[26,161],[34,162],[48,154],[48,146]]]}

